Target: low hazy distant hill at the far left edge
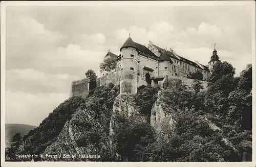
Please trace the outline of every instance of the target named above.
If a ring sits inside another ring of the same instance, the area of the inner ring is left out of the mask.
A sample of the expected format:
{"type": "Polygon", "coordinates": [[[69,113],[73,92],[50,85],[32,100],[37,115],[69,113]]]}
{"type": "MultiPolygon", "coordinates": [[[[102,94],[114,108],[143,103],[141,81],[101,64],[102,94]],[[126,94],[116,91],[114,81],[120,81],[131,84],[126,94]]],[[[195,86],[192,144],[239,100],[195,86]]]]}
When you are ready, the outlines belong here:
{"type": "Polygon", "coordinates": [[[36,128],[36,126],[25,125],[25,124],[6,124],[5,125],[5,144],[9,146],[12,137],[20,132],[22,135],[27,134],[30,130],[36,128]]]}

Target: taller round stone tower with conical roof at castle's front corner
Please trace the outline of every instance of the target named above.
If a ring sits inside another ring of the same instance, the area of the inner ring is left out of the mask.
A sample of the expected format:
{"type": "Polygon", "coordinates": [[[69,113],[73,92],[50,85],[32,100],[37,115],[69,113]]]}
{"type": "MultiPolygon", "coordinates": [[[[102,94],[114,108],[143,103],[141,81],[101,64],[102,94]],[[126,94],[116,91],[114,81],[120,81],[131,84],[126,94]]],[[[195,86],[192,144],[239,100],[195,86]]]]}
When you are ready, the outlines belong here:
{"type": "Polygon", "coordinates": [[[131,37],[124,42],[120,48],[120,52],[120,93],[137,93],[138,52],[137,46],[131,37]]]}

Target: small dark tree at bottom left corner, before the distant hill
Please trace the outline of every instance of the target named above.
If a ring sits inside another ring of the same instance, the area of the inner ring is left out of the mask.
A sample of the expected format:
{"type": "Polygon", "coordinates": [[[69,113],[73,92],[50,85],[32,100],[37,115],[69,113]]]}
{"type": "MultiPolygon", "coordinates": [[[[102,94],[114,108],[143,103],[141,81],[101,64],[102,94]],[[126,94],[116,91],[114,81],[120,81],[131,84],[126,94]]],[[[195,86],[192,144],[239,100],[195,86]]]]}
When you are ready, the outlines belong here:
{"type": "Polygon", "coordinates": [[[22,144],[22,135],[19,133],[16,133],[11,140],[11,146],[7,149],[8,156],[10,159],[14,160],[16,159],[15,154],[17,154],[19,150],[19,146],[22,144]]]}

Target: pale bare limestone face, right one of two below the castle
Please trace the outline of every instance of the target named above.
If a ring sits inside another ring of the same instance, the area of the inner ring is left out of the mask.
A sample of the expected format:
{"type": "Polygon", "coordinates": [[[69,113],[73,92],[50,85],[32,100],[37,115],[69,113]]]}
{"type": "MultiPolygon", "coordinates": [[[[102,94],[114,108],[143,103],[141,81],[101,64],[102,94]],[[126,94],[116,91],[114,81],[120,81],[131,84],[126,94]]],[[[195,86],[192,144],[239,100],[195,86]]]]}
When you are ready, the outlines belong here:
{"type": "Polygon", "coordinates": [[[161,91],[158,92],[157,96],[158,99],[151,110],[150,124],[157,133],[160,133],[163,126],[168,126],[168,128],[172,129],[175,127],[176,122],[172,114],[166,112],[162,107],[164,104],[160,102],[161,91]]]}

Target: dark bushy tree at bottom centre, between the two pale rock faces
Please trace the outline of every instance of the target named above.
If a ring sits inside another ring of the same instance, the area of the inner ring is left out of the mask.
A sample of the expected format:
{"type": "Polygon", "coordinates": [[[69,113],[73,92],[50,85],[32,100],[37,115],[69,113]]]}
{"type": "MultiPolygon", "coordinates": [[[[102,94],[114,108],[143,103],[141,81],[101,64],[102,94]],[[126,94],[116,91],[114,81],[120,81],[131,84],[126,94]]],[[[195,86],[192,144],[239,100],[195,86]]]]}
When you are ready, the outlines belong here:
{"type": "Polygon", "coordinates": [[[136,116],[118,115],[114,136],[117,143],[117,153],[122,161],[140,161],[144,152],[150,150],[155,141],[155,131],[149,123],[139,121],[136,116]]]}

